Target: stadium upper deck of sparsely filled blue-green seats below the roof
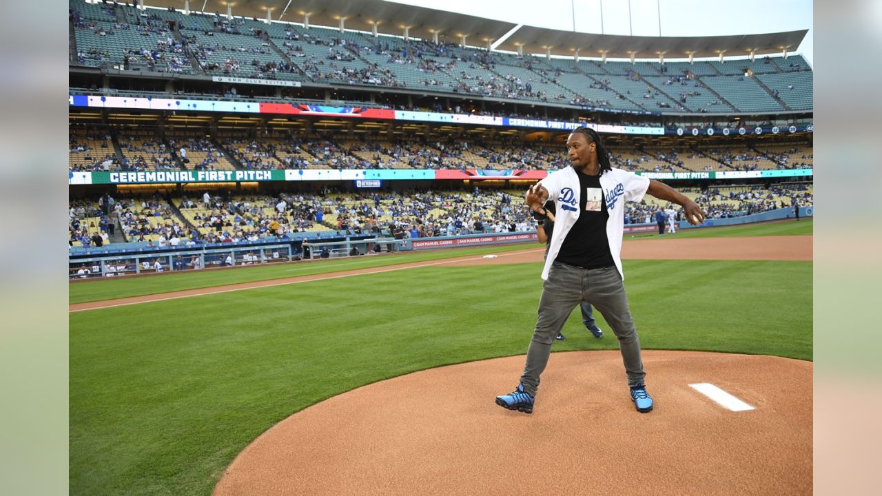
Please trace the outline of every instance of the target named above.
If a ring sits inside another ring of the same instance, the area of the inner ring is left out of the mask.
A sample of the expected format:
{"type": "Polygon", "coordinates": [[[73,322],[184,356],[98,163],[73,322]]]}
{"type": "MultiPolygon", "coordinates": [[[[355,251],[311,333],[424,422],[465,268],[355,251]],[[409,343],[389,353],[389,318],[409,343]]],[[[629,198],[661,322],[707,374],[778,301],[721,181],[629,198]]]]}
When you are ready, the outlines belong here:
{"type": "Polygon", "coordinates": [[[813,108],[811,68],[798,55],[692,64],[577,62],[83,0],[71,0],[70,17],[73,67],[206,80],[278,79],[373,92],[395,88],[638,113],[782,114],[813,108]]]}

